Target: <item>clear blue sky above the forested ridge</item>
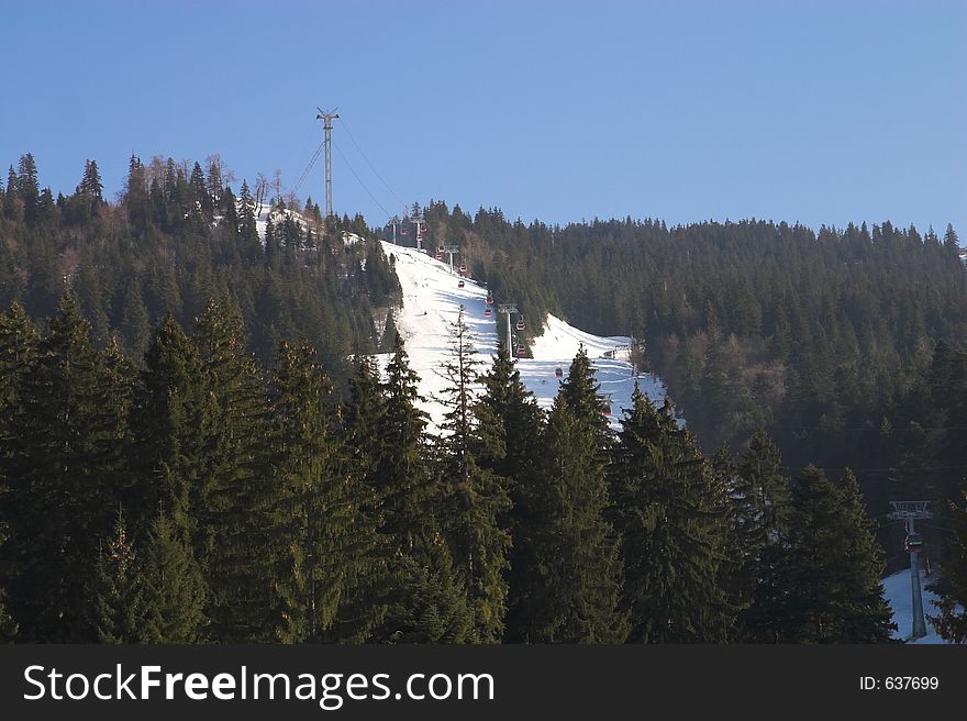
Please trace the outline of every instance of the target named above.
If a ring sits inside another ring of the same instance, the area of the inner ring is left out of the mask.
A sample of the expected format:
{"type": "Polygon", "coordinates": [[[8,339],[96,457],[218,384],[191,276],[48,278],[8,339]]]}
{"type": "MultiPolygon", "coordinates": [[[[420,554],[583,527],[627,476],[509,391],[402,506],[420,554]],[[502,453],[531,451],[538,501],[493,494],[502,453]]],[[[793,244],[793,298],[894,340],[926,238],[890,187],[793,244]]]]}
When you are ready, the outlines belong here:
{"type": "Polygon", "coordinates": [[[334,206],[374,224],[347,160],[400,203],[344,129],[408,203],[967,239],[965,36],[962,0],[0,0],[0,164],[56,192],[95,158],[113,195],[132,152],[218,152],[291,186],[338,106],[334,206]]]}

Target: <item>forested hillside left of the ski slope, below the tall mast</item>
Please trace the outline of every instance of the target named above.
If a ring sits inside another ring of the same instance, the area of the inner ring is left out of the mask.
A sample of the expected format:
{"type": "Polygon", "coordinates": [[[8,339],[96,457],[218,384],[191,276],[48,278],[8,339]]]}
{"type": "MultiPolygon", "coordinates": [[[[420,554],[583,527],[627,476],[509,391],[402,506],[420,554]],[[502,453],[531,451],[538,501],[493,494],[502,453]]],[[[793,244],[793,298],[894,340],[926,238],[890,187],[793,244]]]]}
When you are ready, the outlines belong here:
{"type": "Polygon", "coordinates": [[[263,182],[240,193],[218,156],[176,164],[132,157],[124,188],[109,202],[97,163],[77,191],[41,189],[27,154],[0,182],[0,303],[27,314],[54,313],[65,288],[90,319],[95,339],[112,334],[134,357],[166,314],[190,325],[212,298],[241,310],[249,348],[268,362],[281,339],[304,337],[344,379],[346,358],[380,339],[376,311],[396,302],[399,285],[363,219],[323,222],[309,200],[292,206],[263,182]],[[259,236],[256,214],[275,209],[259,236]],[[273,222],[274,219],[274,222],[273,222]]]}

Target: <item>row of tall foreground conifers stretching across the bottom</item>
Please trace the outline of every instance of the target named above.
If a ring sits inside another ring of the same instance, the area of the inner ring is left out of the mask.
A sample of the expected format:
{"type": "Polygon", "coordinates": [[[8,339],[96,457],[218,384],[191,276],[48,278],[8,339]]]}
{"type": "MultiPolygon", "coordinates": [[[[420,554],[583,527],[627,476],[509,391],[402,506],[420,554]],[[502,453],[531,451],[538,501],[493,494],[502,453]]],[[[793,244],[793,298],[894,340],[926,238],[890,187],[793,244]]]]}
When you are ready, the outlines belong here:
{"type": "Polygon", "coordinates": [[[641,392],[612,434],[583,351],[544,413],[460,318],[431,434],[399,335],[343,398],[308,343],[259,364],[227,300],[188,332],[164,318],[137,364],[91,329],[69,295],[43,330],[0,317],[8,639],[890,636],[852,474],[790,479],[762,431],[707,459],[641,392]]]}

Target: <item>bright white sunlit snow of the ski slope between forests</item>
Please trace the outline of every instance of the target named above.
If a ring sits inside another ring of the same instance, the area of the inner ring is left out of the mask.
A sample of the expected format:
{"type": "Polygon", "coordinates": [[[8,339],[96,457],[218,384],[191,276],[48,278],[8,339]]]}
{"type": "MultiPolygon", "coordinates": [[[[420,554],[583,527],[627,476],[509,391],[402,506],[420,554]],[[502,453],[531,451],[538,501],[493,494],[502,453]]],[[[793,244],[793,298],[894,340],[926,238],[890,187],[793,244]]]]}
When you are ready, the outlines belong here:
{"type": "MultiPolygon", "coordinates": [[[[456,321],[460,304],[474,334],[478,358],[484,362],[479,367],[481,373],[489,368],[491,356],[497,353],[498,323],[503,324],[507,320],[496,307],[492,315],[485,318],[487,290],[469,278],[464,288],[458,288],[459,278],[451,275],[446,263],[434,260],[433,256],[415,248],[386,242],[382,245],[387,257],[392,255],[396,258],[397,276],[403,289],[403,308],[394,317],[397,329],[405,342],[410,365],[420,376],[420,393],[426,399],[423,408],[430,413],[432,423],[440,425],[444,408],[435,399],[446,387],[440,367],[449,356],[449,324],[456,321]]],[[[630,339],[591,335],[548,315],[544,334],[535,339],[531,347],[534,357],[518,359],[521,379],[537,398],[541,408],[549,409],[559,382],[555,370],[560,368],[567,377],[570,362],[581,344],[597,368],[600,392],[611,396],[611,424],[618,429],[621,409],[631,406],[635,382],[634,368],[622,359],[626,358],[630,339]],[[619,357],[605,358],[605,353],[619,357]]],[[[385,366],[386,360],[381,358],[380,365],[385,366]]],[[[656,402],[664,400],[665,387],[658,378],[641,374],[637,381],[649,398],[656,402]]]]}

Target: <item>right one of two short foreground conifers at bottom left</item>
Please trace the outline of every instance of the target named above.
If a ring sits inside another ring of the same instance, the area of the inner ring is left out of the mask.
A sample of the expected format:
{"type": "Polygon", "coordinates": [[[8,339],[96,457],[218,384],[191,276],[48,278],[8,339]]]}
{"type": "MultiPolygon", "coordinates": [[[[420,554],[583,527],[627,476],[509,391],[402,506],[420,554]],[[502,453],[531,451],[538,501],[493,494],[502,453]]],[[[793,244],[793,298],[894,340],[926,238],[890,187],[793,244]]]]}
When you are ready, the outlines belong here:
{"type": "Polygon", "coordinates": [[[204,578],[191,546],[164,512],[152,523],[138,574],[144,589],[144,642],[204,641],[204,578]]]}

